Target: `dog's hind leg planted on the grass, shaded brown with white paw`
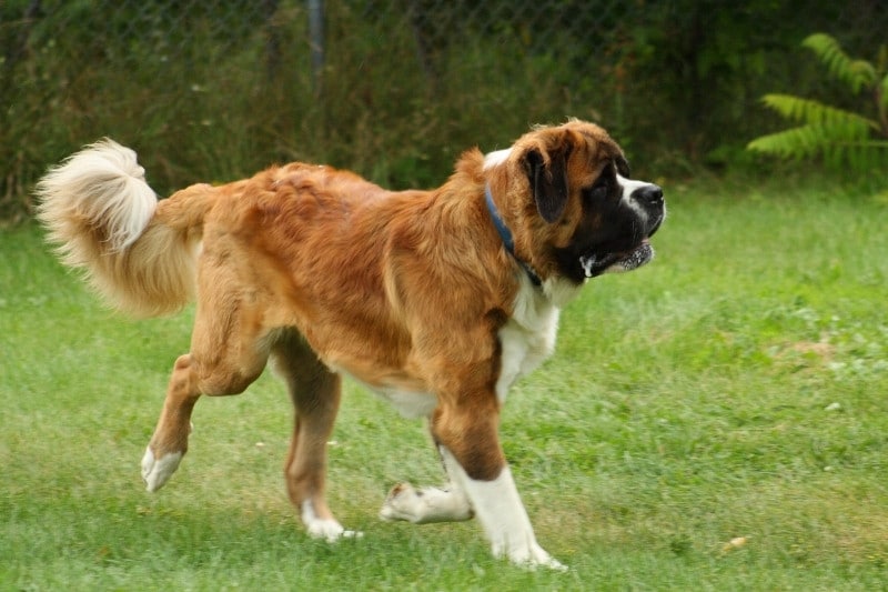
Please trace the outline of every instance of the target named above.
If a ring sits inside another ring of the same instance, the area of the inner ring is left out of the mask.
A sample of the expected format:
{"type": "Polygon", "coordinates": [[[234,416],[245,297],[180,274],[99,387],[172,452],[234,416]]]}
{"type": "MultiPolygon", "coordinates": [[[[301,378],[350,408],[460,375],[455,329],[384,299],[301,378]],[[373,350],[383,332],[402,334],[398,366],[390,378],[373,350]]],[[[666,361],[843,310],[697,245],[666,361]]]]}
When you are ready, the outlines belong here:
{"type": "Polygon", "coordinates": [[[361,533],[345,530],[326,503],[326,446],[340,408],[341,378],[331,372],[296,334],[286,333],[272,348],[275,372],[293,400],[293,438],[284,465],[290,501],[309,534],[335,541],[361,533]]]}

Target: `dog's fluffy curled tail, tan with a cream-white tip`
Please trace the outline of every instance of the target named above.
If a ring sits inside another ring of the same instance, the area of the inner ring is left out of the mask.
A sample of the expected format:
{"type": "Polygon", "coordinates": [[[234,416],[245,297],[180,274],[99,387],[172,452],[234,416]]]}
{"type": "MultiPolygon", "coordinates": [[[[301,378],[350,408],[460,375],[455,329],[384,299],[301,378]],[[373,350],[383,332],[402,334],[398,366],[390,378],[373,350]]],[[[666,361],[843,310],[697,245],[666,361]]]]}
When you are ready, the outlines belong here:
{"type": "Polygon", "coordinates": [[[109,304],[155,317],[193,297],[200,239],[193,225],[202,223],[206,200],[184,209],[178,200],[173,210],[190,214],[180,220],[157,215],[158,199],[129,148],[108,139],[85,147],[50,169],[37,197],[37,217],[62,262],[82,269],[109,304]]]}

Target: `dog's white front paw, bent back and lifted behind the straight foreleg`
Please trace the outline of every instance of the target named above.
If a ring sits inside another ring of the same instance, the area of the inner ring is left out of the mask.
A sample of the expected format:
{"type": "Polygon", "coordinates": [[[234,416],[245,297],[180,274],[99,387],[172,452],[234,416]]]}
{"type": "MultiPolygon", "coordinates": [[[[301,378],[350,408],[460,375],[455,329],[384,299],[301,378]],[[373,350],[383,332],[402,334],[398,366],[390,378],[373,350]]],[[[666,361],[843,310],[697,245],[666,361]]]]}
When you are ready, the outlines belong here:
{"type": "Polygon", "coordinates": [[[416,490],[410,483],[398,483],[382,504],[383,520],[406,520],[414,524],[430,522],[456,522],[473,515],[468,499],[456,489],[423,488],[416,490]]]}

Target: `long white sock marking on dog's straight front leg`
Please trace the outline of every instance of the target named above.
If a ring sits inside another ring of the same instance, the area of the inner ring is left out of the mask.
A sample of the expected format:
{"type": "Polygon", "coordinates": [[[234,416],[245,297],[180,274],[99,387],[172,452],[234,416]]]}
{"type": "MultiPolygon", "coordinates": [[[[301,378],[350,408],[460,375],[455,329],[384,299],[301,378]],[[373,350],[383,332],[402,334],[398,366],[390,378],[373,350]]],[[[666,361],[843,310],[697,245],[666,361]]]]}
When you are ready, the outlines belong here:
{"type": "Polygon", "coordinates": [[[532,569],[537,565],[567,569],[536,542],[531,519],[521,502],[508,466],[504,466],[493,481],[477,481],[466,474],[446,448],[442,446],[441,453],[447,472],[468,495],[495,556],[506,556],[513,563],[532,569]]]}

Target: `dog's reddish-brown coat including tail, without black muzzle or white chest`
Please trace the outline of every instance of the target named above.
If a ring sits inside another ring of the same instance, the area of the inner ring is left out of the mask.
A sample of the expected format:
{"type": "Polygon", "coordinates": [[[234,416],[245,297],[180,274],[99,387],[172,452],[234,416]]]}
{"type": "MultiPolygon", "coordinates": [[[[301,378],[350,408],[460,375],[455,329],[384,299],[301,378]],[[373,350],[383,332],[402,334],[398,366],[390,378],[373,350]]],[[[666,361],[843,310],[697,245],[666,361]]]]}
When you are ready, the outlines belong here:
{"type": "MultiPolygon", "coordinates": [[[[141,178],[134,154],[97,146],[131,157],[118,177],[141,178]]],[[[196,293],[191,349],[174,364],[153,456],[183,453],[198,399],[242,392],[272,358],[296,408],[290,498],[327,518],[325,444],[343,370],[376,389],[433,393],[436,442],[472,479],[503,470],[497,332],[526,280],[491,222],[485,183],[516,255],[557,279],[553,249],[588,215],[579,188],[622,158],[603,130],[578,121],[531,131],[513,153],[485,169],[470,150],[432,191],[391,192],[329,167],[274,167],[179,191],[141,232],[134,222],[121,230],[129,190],[91,179],[87,157],[75,155],[41,182],[40,218],[65,261],[128,312],[171,312],[196,293]],[[541,155],[542,182],[569,180],[557,223],[541,218],[522,158],[529,151],[541,155]]]]}

